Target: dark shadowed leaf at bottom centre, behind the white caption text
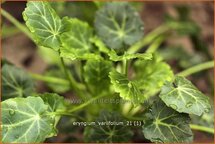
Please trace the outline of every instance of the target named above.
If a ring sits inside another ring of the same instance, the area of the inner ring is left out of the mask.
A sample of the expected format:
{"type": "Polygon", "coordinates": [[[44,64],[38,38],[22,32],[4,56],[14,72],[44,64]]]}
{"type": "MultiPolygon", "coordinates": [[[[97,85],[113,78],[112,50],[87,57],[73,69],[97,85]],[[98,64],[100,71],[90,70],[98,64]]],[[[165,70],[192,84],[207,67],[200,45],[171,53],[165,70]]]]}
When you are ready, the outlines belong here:
{"type": "Polygon", "coordinates": [[[84,136],[87,142],[128,142],[133,135],[126,121],[116,112],[103,111],[95,122],[95,126],[85,128],[84,136]],[[115,124],[105,124],[109,122],[115,124]]]}

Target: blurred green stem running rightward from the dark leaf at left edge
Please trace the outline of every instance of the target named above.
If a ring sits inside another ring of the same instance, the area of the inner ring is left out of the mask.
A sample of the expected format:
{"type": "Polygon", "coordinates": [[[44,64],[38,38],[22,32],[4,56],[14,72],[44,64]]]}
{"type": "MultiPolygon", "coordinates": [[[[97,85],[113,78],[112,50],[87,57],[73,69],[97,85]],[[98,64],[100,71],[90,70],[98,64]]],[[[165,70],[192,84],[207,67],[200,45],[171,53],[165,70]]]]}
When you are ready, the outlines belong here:
{"type": "Polygon", "coordinates": [[[36,79],[36,80],[41,80],[41,81],[53,83],[53,84],[61,84],[65,86],[69,85],[69,82],[64,79],[49,77],[49,76],[44,76],[44,75],[34,74],[34,73],[29,73],[29,74],[33,79],[36,79]]]}

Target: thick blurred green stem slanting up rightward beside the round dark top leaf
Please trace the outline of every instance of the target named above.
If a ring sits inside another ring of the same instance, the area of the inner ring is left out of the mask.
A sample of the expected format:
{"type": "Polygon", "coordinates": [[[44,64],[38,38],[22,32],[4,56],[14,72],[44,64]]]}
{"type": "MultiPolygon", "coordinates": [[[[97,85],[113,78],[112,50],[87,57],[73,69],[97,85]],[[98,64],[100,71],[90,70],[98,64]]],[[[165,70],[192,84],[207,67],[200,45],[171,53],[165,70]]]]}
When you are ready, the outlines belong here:
{"type": "Polygon", "coordinates": [[[165,33],[169,30],[169,27],[165,25],[161,25],[158,28],[156,28],[154,31],[150,32],[148,35],[146,35],[142,40],[138,41],[136,44],[131,46],[128,49],[128,53],[136,53],[139,51],[142,47],[150,44],[156,37],[158,37],[160,34],[165,33]]]}

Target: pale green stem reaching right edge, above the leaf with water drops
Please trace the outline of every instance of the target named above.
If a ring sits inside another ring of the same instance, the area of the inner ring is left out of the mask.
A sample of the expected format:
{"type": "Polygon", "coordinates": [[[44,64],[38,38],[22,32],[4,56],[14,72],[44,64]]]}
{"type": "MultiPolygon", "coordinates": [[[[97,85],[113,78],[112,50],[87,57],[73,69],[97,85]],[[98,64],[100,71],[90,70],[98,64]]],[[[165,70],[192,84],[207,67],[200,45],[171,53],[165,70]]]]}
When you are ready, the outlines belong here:
{"type": "Polygon", "coordinates": [[[205,62],[205,63],[195,65],[195,66],[193,66],[191,68],[188,68],[188,69],[178,73],[177,75],[186,77],[186,76],[189,76],[191,74],[194,74],[194,73],[206,70],[206,69],[210,69],[210,68],[213,68],[213,67],[214,67],[214,61],[212,60],[212,61],[208,61],[208,62],[205,62]]]}

